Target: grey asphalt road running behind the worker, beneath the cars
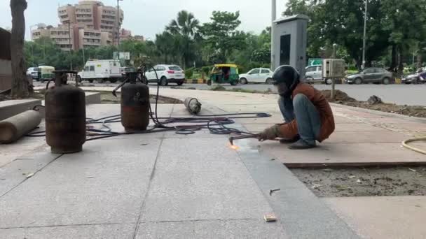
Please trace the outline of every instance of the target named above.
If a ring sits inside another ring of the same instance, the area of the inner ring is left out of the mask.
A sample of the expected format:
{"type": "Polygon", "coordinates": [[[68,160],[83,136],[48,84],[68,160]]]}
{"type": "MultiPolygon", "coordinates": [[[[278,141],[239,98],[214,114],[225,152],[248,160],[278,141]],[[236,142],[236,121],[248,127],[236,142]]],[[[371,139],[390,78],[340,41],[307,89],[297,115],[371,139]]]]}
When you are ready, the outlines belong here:
{"type": "MultiPolygon", "coordinates": [[[[46,83],[35,82],[34,85],[45,85],[46,83]]],[[[88,83],[84,82],[86,86],[117,86],[118,83],[88,83]]],[[[268,88],[276,92],[273,85],[264,84],[249,84],[249,85],[223,85],[226,89],[242,88],[266,91],[268,88]]],[[[155,84],[150,84],[150,87],[155,87],[155,84]]],[[[176,84],[170,84],[167,87],[177,87],[176,84]]],[[[195,89],[209,89],[210,86],[202,84],[184,84],[183,88],[195,88],[195,89]]],[[[317,89],[331,89],[331,85],[314,85],[317,89]]],[[[425,85],[336,85],[336,89],[340,89],[346,92],[352,98],[359,101],[366,101],[370,96],[379,96],[383,101],[387,103],[396,103],[398,105],[408,106],[426,106],[426,84],[425,85]]]]}

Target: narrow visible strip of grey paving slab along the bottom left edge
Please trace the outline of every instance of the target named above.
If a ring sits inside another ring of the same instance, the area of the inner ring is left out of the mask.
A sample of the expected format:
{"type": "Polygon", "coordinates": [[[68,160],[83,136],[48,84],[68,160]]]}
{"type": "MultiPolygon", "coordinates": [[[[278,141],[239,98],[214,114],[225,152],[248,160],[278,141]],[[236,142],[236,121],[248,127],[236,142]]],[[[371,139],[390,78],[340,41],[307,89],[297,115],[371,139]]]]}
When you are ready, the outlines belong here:
{"type": "Polygon", "coordinates": [[[132,239],[134,226],[121,224],[66,225],[0,229],[0,238],[7,239],[132,239]]]}

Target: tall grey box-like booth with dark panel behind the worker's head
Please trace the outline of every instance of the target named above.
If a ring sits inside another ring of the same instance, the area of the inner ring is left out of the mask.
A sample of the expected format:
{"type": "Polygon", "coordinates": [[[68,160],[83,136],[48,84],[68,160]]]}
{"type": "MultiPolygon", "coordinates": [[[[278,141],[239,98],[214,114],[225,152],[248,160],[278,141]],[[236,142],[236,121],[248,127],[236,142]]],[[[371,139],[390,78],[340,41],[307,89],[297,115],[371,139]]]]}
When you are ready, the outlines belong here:
{"type": "Polygon", "coordinates": [[[309,17],[299,14],[273,21],[271,68],[290,65],[305,75],[306,38],[309,17]]]}

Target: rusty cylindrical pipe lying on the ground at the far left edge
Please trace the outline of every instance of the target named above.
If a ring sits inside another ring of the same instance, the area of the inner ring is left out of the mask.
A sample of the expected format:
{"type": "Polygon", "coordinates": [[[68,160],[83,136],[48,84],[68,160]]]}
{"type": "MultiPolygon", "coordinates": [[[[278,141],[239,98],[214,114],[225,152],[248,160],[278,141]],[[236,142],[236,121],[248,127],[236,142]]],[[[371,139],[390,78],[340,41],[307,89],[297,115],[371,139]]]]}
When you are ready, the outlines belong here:
{"type": "Polygon", "coordinates": [[[39,126],[41,114],[27,110],[19,115],[0,121],[0,143],[13,143],[39,126]]]}

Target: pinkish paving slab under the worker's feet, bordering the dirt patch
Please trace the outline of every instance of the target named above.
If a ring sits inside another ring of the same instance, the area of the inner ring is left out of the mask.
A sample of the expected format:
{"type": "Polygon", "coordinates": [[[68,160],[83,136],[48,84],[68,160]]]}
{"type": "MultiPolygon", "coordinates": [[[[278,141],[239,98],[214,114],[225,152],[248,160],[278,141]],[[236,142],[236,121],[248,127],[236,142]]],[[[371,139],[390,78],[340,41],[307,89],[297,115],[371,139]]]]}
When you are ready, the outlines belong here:
{"type": "MultiPolygon", "coordinates": [[[[259,144],[253,140],[252,144],[259,144]]],[[[322,143],[311,150],[289,150],[277,142],[261,143],[262,152],[280,159],[288,167],[363,166],[409,164],[426,161],[426,155],[407,150],[400,143],[322,143]]]]}

